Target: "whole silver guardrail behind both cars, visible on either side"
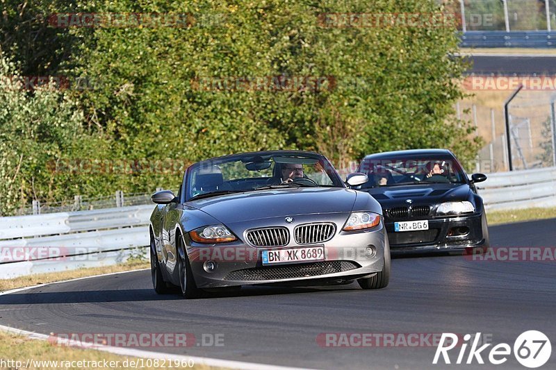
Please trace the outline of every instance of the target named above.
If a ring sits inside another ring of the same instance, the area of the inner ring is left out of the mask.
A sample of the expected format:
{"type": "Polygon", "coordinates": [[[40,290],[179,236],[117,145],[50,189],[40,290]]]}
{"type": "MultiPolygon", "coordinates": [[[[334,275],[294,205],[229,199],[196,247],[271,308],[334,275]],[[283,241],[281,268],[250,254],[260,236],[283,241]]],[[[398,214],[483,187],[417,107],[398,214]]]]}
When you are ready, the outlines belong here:
{"type": "MultiPolygon", "coordinates": [[[[487,210],[556,206],[556,167],[487,174],[487,210]]],[[[154,204],[2,217],[0,278],[116,264],[147,255],[154,204]],[[46,254],[45,254],[46,253],[46,254]]]]}

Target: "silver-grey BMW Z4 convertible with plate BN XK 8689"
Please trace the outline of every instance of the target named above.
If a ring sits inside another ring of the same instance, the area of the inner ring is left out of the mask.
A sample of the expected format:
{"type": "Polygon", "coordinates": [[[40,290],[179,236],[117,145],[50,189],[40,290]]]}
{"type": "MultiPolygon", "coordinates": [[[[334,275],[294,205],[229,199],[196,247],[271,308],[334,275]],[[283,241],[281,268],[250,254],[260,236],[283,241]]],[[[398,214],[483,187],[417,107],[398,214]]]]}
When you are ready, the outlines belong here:
{"type": "Polygon", "coordinates": [[[179,287],[327,285],[386,287],[390,248],[382,208],[364,174],[345,182],[323,155],[261,151],[186,169],[177,195],[156,192],[150,219],[152,283],[179,287]]]}

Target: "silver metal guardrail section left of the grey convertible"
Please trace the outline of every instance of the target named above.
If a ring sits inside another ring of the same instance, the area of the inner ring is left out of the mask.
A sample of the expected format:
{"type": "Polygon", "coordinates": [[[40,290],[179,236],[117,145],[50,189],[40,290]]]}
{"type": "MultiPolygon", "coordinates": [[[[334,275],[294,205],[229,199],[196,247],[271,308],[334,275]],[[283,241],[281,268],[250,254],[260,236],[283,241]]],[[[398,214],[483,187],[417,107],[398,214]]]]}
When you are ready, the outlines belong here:
{"type": "Polygon", "coordinates": [[[147,255],[154,204],[2,217],[0,278],[107,266],[147,255]]]}

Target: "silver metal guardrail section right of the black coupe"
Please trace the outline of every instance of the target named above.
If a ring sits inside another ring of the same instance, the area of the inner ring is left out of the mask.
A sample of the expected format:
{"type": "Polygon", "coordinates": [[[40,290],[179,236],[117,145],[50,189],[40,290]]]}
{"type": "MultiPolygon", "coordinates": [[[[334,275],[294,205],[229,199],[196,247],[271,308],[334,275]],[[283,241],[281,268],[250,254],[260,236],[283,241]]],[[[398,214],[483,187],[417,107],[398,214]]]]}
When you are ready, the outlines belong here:
{"type": "Polygon", "coordinates": [[[556,207],[556,167],[487,174],[477,191],[486,210],[556,207]]]}

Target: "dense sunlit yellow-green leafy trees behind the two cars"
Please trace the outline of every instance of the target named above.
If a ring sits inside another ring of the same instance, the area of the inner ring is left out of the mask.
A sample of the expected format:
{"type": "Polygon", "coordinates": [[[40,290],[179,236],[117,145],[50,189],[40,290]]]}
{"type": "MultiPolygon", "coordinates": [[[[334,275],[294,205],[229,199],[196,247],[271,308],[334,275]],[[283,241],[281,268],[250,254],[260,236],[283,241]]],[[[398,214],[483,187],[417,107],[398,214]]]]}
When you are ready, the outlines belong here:
{"type": "MultiPolygon", "coordinates": [[[[435,1],[104,0],[66,5],[44,0],[30,7],[186,14],[191,21],[179,27],[47,30],[61,43],[58,50],[35,44],[47,61],[28,60],[21,42],[0,39],[28,74],[48,71],[100,81],[94,89],[65,94],[83,112],[79,136],[89,140],[67,149],[68,158],[188,163],[238,151],[304,149],[325,153],[342,167],[368,153],[423,147],[452,149],[466,160],[474,158],[480,144],[470,135],[473,128],[453,115],[464,69],[450,57],[457,51],[454,27],[329,27],[320,22],[325,13],[442,12],[435,1]],[[306,78],[306,88],[243,88],[245,81],[265,78],[306,78]],[[324,83],[312,88],[307,85],[311,81],[324,83]],[[234,84],[243,87],[230,87],[234,84]]],[[[21,6],[15,8],[22,12],[21,6]]],[[[8,12],[8,26],[19,13],[8,12]]],[[[60,114],[60,119],[67,116],[60,114]]],[[[14,131],[2,127],[2,132],[14,131]]],[[[65,141],[60,143],[67,148],[65,141]]],[[[26,158],[27,152],[21,153],[26,158]]],[[[8,167],[13,173],[15,162],[8,167]]],[[[88,195],[111,186],[124,192],[176,187],[179,175],[169,175],[67,180],[81,184],[82,194],[88,195]]]]}

